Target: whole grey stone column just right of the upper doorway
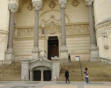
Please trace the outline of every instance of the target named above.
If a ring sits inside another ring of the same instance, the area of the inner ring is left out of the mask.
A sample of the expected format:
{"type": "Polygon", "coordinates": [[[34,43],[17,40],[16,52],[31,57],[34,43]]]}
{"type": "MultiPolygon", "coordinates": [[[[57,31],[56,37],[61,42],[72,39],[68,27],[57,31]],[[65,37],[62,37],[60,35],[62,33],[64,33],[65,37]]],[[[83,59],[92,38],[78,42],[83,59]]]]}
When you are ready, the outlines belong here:
{"type": "Polygon", "coordinates": [[[60,9],[61,9],[61,59],[68,59],[68,50],[66,46],[66,29],[65,29],[65,6],[67,0],[59,0],[60,9]]]}

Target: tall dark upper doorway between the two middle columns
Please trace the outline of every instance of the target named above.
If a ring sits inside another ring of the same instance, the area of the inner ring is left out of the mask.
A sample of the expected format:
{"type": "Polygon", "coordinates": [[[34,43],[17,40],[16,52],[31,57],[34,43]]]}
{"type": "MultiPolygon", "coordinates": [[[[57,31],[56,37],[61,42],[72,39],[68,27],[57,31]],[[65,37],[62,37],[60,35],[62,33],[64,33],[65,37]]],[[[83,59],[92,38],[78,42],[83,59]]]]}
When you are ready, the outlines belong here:
{"type": "Polygon", "coordinates": [[[49,37],[48,39],[48,59],[51,57],[59,56],[59,41],[57,36],[49,37]]]}

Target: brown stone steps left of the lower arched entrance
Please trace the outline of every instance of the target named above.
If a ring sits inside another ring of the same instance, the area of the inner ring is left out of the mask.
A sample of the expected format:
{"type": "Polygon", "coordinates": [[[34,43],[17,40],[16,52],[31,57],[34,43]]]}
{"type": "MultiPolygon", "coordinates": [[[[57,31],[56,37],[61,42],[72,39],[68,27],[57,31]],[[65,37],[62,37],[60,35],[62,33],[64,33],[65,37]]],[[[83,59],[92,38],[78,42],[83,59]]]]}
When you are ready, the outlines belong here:
{"type": "Polygon", "coordinates": [[[20,62],[12,62],[12,64],[3,64],[0,66],[0,81],[19,81],[21,78],[20,62]]]}

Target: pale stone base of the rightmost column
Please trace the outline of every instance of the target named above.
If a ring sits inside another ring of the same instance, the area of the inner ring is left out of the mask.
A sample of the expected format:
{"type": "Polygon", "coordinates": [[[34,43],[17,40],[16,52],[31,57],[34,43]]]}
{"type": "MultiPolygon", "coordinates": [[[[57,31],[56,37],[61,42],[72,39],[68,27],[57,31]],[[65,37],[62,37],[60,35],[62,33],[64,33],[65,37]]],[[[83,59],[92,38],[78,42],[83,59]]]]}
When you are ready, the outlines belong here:
{"type": "Polygon", "coordinates": [[[98,48],[91,48],[90,61],[99,61],[99,51],[98,48]]]}

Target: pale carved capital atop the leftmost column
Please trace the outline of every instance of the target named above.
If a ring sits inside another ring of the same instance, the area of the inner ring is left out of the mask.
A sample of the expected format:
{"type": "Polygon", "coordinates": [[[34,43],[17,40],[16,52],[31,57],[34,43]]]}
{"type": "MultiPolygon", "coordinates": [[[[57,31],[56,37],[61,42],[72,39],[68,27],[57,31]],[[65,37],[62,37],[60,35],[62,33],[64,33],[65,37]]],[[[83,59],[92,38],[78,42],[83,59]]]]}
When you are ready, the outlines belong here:
{"type": "Polygon", "coordinates": [[[9,0],[8,8],[11,12],[16,12],[18,10],[18,7],[18,0],[9,0]]]}

